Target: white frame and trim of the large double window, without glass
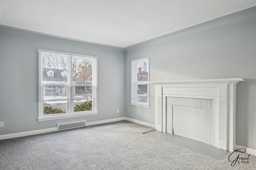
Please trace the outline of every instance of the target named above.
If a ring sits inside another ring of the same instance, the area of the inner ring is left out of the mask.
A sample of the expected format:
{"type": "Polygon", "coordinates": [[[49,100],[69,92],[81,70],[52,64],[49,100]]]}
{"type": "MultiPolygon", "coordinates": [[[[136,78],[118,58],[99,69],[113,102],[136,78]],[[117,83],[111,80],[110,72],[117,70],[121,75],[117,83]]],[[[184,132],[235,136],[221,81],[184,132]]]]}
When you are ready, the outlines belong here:
{"type": "MultiPolygon", "coordinates": [[[[59,113],[59,114],[51,114],[51,115],[44,115],[44,104],[43,102],[38,102],[38,121],[47,121],[47,120],[54,120],[54,119],[64,119],[64,118],[70,118],[70,117],[80,117],[80,116],[89,116],[89,115],[97,115],[98,114],[98,57],[96,56],[89,56],[89,55],[80,55],[80,54],[74,54],[74,53],[64,53],[64,52],[58,52],[58,51],[48,51],[48,50],[42,50],[38,49],[38,61],[39,61],[39,66],[38,66],[38,90],[41,91],[41,93],[38,93],[38,98],[42,101],[43,100],[43,94],[44,86],[49,86],[47,84],[42,85],[41,80],[42,80],[42,60],[40,57],[41,52],[43,53],[50,53],[50,54],[56,54],[56,55],[66,55],[69,57],[69,62],[72,63],[72,56],[74,57],[87,57],[87,58],[92,58],[94,59],[93,62],[93,70],[92,70],[92,82],[94,84],[90,84],[92,86],[92,92],[93,92],[93,98],[92,98],[92,111],[80,111],[80,112],[74,112],[74,102],[70,103],[70,98],[72,98],[72,93],[67,94],[67,105],[70,106],[69,112],[68,113],[59,113]],[[41,66],[41,67],[40,67],[41,66]],[[41,90],[40,90],[41,89],[41,90]]],[[[71,70],[70,68],[71,64],[69,64],[68,70],[71,70]]],[[[75,86],[81,86],[81,85],[75,85],[72,84],[72,71],[68,72],[68,84],[51,84],[51,86],[66,86],[69,89],[73,89],[75,86]],[[68,75],[69,74],[69,75],[68,75]]],[[[86,86],[86,85],[83,85],[86,86]]],[[[88,86],[88,85],[87,85],[88,86]]],[[[68,90],[70,91],[70,90],[68,90]]]]}

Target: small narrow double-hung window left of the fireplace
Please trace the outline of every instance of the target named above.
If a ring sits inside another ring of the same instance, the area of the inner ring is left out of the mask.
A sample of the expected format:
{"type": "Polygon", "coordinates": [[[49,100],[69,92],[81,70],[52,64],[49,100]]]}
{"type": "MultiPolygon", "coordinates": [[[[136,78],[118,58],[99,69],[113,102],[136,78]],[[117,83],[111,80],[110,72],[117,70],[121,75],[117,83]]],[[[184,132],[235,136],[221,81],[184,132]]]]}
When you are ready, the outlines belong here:
{"type": "Polygon", "coordinates": [[[149,107],[149,57],[132,60],[131,104],[149,107]]]}

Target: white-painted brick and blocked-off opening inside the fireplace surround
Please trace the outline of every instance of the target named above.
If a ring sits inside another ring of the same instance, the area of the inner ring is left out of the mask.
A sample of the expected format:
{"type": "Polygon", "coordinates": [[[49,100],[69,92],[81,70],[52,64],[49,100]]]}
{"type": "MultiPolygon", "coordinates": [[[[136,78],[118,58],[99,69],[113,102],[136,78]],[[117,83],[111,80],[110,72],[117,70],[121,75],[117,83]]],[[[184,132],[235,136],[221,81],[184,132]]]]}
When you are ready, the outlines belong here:
{"type": "Polygon", "coordinates": [[[166,132],[213,145],[213,100],[166,97],[166,132]]]}

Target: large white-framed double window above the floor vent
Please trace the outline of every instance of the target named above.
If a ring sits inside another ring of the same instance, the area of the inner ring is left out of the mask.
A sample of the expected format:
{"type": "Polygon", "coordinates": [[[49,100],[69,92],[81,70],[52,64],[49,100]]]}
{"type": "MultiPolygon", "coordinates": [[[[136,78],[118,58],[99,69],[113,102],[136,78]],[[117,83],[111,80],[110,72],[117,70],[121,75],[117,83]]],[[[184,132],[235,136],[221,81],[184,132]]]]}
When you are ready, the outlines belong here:
{"type": "Polygon", "coordinates": [[[38,120],[97,114],[95,56],[38,50],[38,120]]]}

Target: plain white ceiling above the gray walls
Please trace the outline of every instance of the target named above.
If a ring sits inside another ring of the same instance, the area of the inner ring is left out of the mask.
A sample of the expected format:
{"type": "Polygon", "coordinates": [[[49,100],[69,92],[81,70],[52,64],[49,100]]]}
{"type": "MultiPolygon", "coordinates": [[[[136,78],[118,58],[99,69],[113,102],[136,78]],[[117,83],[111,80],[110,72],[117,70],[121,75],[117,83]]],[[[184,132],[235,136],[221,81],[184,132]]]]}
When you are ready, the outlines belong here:
{"type": "Polygon", "coordinates": [[[128,47],[256,6],[256,0],[0,0],[0,24],[128,47]]]}

